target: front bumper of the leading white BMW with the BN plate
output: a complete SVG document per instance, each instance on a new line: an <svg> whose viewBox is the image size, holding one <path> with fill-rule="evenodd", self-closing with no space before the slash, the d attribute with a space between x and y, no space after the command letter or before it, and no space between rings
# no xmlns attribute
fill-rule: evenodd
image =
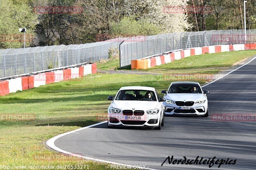
<svg viewBox="0 0 256 170"><path fill-rule="evenodd" d="M134 115L131 115L134 116ZM140 126L140 127L157 127L160 120L160 111L158 114L147 114L140 116L140 120L127 120L122 111L118 114L108 112L108 125L109 126ZM115 120L115 121L113 121Z"/></svg>

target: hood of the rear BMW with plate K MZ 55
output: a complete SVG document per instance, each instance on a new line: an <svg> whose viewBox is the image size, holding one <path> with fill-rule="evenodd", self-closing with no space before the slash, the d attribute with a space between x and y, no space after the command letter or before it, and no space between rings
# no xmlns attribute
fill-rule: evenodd
<svg viewBox="0 0 256 170"><path fill-rule="evenodd" d="M164 97L168 100L173 101L198 101L204 99L204 94L191 94L191 93L167 93L167 95Z"/></svg>

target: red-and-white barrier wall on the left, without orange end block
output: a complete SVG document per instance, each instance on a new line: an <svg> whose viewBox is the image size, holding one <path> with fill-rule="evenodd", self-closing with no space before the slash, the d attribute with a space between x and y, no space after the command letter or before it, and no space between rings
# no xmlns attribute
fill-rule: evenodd
<svg viewBox="0 0 256 170"><path fill-rule="evenodd" d="M62 68L61 70L52 70L44 73L35 73L33 75L10 78L0 81L0 96L6 94L27 90L40 85L47 85L63 80L83 77L97 72L96 63L74 66L71 68Z"/></svg>

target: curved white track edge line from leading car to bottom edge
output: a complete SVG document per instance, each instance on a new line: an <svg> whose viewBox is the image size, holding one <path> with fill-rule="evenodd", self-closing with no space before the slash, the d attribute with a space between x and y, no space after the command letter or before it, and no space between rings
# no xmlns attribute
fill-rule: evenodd
<svg viewBox="0 0 256 170"><path fill-rule="evenodd" d="M106 160L101 160L101 159L94 159L94 158L85 157L85 156L82 156L82 155L79 155L79 154L74 154L74 153L71 153L71 152L67 152L67 151L64 151L64 150L58 148L54 144L55 140L57 140L60 137L63 137L63 136L68 135L70 133L77 132L77 131L80 131L80 130L83 130L83 129L87 129L87 128L90 128L90 127L93 127L93 126L97 126L97 125L100 125L100 124L103 124L103 123L107 123L107 122L108 121L104 121L104 122L96 123L96 124L93 124L93 125L90 125L90 126L86 126L86 127L83 127L83 128L79 128L79 129L76 129L76 130L72 130L70 132L62 133L60 135L52 137L51 139L46 141L45 144L47 146L49 146L50 148L52 148L53 150L55 150L55 151L58 151L58 152L61 152L61 153L65 153L65 154L68 154L68 155L71 155L71 156L76 156L76 157L80 157L80 158L84 158L84 159L89 159L89 160L94 160L94 161L99 161L99 162L104 162L104 163L109 163L109 164L116 164L116 165L123 165L123 166L133 167L133 165L121 164L121 163L116 163L116 162L111 162L111 161L106 161ZM138 168L140 168L140 167L138 167ZM147 168L147 167L141 167L140 169L156 170L156 169L151 169L151 168Z"/></svg>

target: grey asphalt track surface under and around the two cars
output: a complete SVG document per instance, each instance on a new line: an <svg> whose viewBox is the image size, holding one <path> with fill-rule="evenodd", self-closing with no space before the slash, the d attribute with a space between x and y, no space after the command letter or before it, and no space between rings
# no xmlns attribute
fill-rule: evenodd
<svg viewBox="0 0 256 170"><path fill-rule="evenodd" d="M255 169L256 122L213 121L213 114L254 114L256 59L203 88L209 90L209 117L166 117L161 130L108 129L103 123L55 140L56 147L86 157L153 169ZM163 89L164 90L164 89ZM235 165L161 164L174 159L236 159ZM215 160L216 160L215 159Z"/></svg>

